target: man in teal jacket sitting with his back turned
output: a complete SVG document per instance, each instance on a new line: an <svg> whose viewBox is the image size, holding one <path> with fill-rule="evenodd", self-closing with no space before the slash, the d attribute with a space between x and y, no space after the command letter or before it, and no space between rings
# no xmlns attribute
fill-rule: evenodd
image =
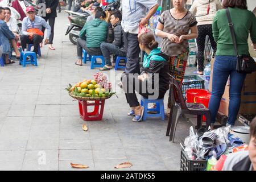
<svg viewBox="0 0 256 182"><path fill-rule="evenodd" d="M95 18L86 22L77 40L77 61L76 65L82 65L82 49L92 56L101 56L101 43L106 42L109 24L104 21L106 13L97 11Z"/></svg>

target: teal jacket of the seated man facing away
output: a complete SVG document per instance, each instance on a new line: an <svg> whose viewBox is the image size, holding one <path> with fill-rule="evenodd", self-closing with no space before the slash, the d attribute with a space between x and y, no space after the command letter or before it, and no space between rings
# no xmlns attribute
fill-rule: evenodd
<svg viewBox="0 0 256 182"><path fill-rule="evenodd" d="M101 19L93 19L86 22L79 37L86 39L86 46L89 48L99 48L102 42L106 41L109 24Z"/></svg>

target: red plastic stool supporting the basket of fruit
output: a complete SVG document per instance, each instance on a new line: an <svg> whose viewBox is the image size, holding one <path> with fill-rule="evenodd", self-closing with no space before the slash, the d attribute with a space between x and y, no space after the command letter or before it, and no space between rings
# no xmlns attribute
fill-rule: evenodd
<svg viewBox="0 0 256 182"><path fill-rule="evenodd" d="M79 100L80 117L84 119L84 121L100 121L102 119L104 105L105 105L105 100L102 100L102 101ZM94 110L91 113L88 112L88 106L94 106Z"/></svg>

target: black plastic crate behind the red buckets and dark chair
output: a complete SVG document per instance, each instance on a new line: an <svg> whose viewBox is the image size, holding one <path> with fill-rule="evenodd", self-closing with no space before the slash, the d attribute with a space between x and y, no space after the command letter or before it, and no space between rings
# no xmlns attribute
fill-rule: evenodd
<svg viewBox="0 0 256 182"><path fill-rule="evenodd" d="M181 87L184 98L188 89L204 89L204 79L198 75L184 76Z"/></svg>

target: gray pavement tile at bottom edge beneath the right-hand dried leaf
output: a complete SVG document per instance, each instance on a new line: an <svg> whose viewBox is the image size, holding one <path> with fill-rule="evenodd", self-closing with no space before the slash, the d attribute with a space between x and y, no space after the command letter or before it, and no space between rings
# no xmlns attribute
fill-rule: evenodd
<svg viewBox="0 0 256 182"><path fill-rule="evenodd" d="M98 171L131 171L131 168L114 168L118 164L128 162L125 159L95 159L94 169ZM126 176L125 176L126 177Z"/></svg>

